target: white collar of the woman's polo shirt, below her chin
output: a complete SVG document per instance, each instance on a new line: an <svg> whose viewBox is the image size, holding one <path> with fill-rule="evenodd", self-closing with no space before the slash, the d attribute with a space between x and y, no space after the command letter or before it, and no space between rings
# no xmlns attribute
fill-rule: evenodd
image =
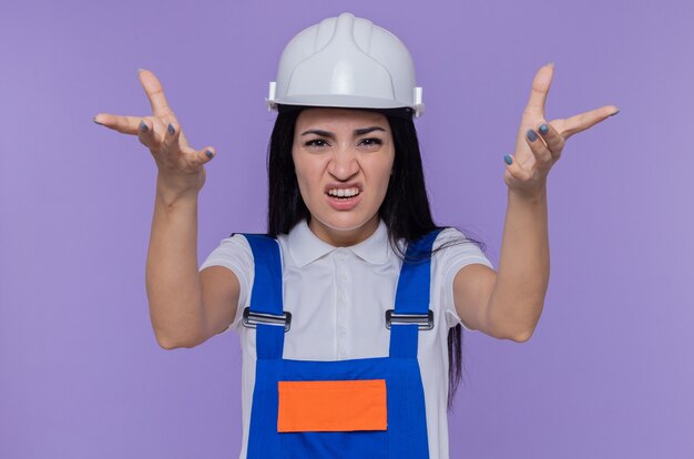
<svg viewBox="0 0 694 459"><path fill-rule="evenodd" d="M339 248L318 238L308 227L306 220L302 220L289 232L288 242L292 258L299 267ZM388 259L388 228L384 221L379 220L378 227L374 234L359 244L345 248L351 251L367 263L380 265Z"/></svg>

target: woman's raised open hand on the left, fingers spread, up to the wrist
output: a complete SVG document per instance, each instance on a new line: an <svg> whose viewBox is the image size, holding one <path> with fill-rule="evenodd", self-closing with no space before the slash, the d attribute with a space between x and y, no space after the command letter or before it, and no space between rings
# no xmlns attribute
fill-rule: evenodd
<svg viewBox="0 0 694 459"><path fill-rule="evenodd" d="M156 162L157 191L172 197L200 192L205 183L203 165L214 157L214 150L192 149L166 102L159 79L149 70L140 70L139 78L152 104L152 115L121 116L99 113L94 116L94 122L123 134L137 135Z"/></svg>

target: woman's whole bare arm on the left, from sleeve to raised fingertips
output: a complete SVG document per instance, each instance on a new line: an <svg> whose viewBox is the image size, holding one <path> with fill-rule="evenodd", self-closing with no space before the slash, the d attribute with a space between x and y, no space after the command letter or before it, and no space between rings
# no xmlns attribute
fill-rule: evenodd
<svg viewBox="0 0 694 459"><path fill-rule="evenodd" d="M205 183L204 164L214 152L192 149L154 73L141 71L139 76L153 115L100 113L94 121L137 135L156 162L145 276L150 317L160 346L193 347L228 325L238 302L238 280L228 269L197 272L197 196Z"/></svg>

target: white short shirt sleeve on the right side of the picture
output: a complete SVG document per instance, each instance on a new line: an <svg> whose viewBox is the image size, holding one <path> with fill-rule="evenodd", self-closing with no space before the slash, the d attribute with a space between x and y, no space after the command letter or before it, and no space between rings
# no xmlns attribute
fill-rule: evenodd
<svg viewBox="0 0 694 459"><path fill-rule="evenodd" d="M479 263L492 269L493 266L480 247L456 228L450 227L441 231L432 248L437 249L443 245L445 247L435 254L432 263L433 282L440 283L437 287L440 288L440 306L446 316L446 323L449 328L461 324L465 329L473 332L466 326L456 310L453 279L463 266L473 263Z"/></svg>

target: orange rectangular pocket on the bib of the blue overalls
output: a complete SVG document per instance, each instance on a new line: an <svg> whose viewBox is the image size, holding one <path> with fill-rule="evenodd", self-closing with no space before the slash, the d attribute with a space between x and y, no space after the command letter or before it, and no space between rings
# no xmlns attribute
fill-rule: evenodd
<svg viewBox="0 0 694 459"><path fill-rule="evenodd" d="M385 379L279 381L279 432L386 430Z"/></svg>

